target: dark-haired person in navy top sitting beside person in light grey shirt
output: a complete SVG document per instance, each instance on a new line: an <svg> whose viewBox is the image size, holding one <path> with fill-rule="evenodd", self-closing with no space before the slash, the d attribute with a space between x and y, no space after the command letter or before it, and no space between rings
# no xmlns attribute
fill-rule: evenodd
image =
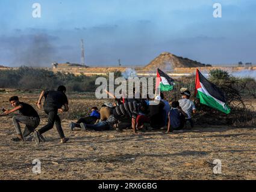
<svg viewBox="0 0 256 192"><path fill-rule="evenodd" d="M172 109L168 113L168 126L166 133L173 132L175 130L181 130L184 127L185 117L187 117L187 113L185 113L178 101L172 102Z"/></svg>

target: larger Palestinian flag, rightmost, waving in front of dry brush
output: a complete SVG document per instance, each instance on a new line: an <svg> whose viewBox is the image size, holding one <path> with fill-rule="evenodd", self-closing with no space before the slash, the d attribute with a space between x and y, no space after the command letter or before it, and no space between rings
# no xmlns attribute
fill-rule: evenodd
<svg viewBox="0 0 256 192"><path fill-rule="evenodd" d="M202 104L226 114L230 113L230 108L226 105L223 92L216 85L209 82L198 69L196 70L195 96L199 98Z"/></svg>

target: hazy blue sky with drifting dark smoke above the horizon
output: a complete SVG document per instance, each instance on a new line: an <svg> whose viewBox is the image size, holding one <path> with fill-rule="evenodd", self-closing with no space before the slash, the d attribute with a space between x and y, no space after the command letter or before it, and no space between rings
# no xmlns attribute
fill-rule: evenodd
<svg viewBox="0 0 256 192"><path fill-rule="evenodd" d="M256 64L255 24L254 0L1 0L0 65L80 63L82 38L89 66L146 65L161 52Z"/></svg>

